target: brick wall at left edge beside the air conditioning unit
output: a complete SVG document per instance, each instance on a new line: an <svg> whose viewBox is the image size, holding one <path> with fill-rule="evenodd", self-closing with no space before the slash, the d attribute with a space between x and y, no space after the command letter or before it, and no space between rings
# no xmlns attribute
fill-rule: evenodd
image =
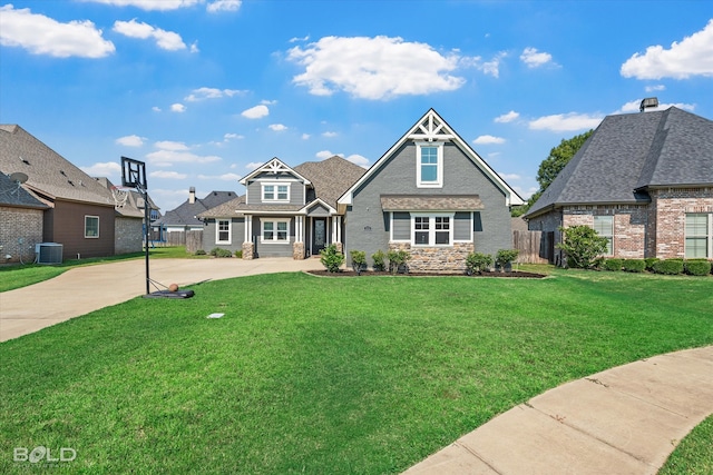
<svg viewBox="0 0 713 475"><path fill-rule="evenodd" d="M35 255L35 245L42 243L42 212L41 209L0 207L0 264L19 263L20 251L28 259ZM6 259L6 255L12 257Z"/></svg>

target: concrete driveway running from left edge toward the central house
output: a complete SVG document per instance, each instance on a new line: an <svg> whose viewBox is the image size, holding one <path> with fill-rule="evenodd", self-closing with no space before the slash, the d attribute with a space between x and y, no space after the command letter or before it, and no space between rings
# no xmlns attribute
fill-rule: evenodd
<svg viewBox="0 0 713 475"><path fill-rule="evenodd" d="M153 259L153 280L168 286L255 274L323 269L320 259ZM144 259L77 267L29 287L0 294L0 342L37 331L146 294ZM152 291L156 288L152 288Z"/></svg>

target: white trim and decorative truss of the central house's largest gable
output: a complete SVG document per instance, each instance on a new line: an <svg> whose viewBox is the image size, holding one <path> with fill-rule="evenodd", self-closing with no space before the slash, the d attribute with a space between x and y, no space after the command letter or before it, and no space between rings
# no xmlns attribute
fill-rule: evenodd
<svg viewBox="0 0 713 475"><path fill-rule="evenodd" d="M371 176L378 174L389 158L407 141L429 141L455 144L478 167L506 197L507 205L522 205L522 198L433 109L429 109L367 172L354 182L338 200L339 205L351 205L353 192Z"/></svg>

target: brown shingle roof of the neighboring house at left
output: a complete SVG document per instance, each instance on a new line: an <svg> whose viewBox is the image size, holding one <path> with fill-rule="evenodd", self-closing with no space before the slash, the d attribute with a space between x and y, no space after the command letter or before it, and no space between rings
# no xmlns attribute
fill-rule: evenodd
<svg viewBox="0 0 713 475"><path fill-rule="evenodd" d="M0 126L0 169L28 176L25 187L55 199L114 206L108 189L17 125Z"/></svg>

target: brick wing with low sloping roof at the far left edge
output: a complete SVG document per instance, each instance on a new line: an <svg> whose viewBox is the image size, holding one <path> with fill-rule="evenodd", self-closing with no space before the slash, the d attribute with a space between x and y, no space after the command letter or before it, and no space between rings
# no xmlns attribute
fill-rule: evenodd
<svg viewBox="0 0 713 475"><path fill-rule="evenodd" d="M42 219L49 206L0 170L0 263L31 259L30 249L42 241ZM22 256L21 256L22 254Z"/></svg>

